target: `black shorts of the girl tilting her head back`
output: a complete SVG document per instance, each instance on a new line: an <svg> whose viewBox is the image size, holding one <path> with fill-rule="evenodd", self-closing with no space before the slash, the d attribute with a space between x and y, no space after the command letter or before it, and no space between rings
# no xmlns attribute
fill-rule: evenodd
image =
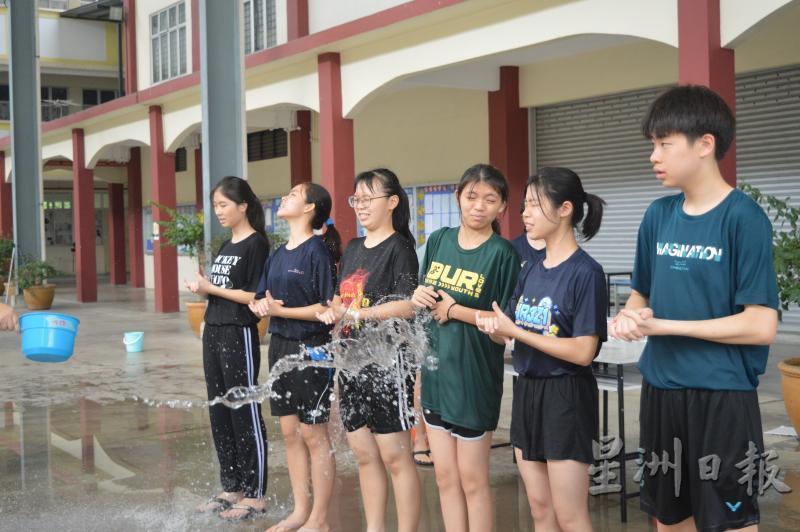
<svg viewBox="0 0 800 532"><path fill-rule="evenodd" d="M316 347L330 341L330 336L319 335L302 342L273 334L269 341L269 369L286 355L302 351L302 345ZM279 398L270 397L269 406L273 416L296 415L301 423L316 425L327 423L331 413L333 394L333 369L293 369L282 374L272 385Z"/></svg>

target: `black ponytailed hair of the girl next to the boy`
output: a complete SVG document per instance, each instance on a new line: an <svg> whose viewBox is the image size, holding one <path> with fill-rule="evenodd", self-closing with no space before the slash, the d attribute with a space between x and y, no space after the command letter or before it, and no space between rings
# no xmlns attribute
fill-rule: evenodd
<svg viewBox="0 0 800 532"><path fill-rule="evenodd" d="M572 220L570 222L574 228L578 228L580 225L578 232L584 241L591 240L600 230L603 205L606 202L594 194L587 194L583 190L581 178L569 168L540 168L528 178L527 187L533 188L540 205L542 197L546 197L556 209L567 201L572 203ZM584 203L587 206L585 217Z"/></svg>

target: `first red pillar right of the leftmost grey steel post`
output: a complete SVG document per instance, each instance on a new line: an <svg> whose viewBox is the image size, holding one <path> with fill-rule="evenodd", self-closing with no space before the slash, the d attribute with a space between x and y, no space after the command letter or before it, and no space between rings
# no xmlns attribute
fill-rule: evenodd
<svg viewBox="0 0 800 532"><path fill-rule="evenodd" d="M75 282L81 303L97 301L97 257L94 177L86 168L83 129L72 130L72 237L75 240Z"/></svg>

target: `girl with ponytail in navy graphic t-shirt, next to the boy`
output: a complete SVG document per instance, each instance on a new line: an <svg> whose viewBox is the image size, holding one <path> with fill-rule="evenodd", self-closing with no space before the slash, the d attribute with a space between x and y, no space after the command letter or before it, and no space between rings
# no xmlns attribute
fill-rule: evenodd
<svg viewBox="0 0 800 532"><path fill-rule="evenodd" d="M584 192L574 172L539 170L528 179L525 217L546 256L525 265L505 312L494 303L494 316L477 315L495 341L515 342L511 444L537 530L592 527L588 467L598 401L591 363L606 340L608 295L603 268L575 232L592 238L602 216L603 200Z"/></svg>

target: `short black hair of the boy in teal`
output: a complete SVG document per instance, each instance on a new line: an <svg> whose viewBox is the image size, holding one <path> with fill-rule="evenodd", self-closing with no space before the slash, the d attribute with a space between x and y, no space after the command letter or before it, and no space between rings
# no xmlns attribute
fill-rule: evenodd
<svg viewBox="0 0 800 532"><path fill-rule="evenodd" d="M722 96L702 85L673 87L656 98L642 121L648 139L682 133L690 142L714 135L714 156L719 161L736 135L736 119Z"/></svg>

